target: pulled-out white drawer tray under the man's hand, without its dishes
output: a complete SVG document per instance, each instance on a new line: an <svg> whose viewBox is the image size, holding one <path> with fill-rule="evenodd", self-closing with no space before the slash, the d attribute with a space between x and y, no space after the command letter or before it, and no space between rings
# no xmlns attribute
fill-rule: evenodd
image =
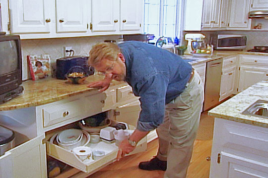
<svg viewBox="0 0 268 178"><path fill-rule="evenodd" d="M84 173L87 173L88 175L95 173L104 166L107 166L108 164L116 160L118 147L114 142L108 143L105 141L100 141L98 143L89 143L86 146L89 146L90 148L92 148L92 150L101 149L105 152L105 155L98 158L94 158L93 155L93 158L90 158L90 160L82 162L72 153L72 151L69 151L61 146L58 146L57 144L51 143L50 141L46 142L47 155L59 161L62 161L67 165L70 165ZM147 148L147 137L145 136L138 142L134 151L129 155L145 151L146 148Z"/></svg>

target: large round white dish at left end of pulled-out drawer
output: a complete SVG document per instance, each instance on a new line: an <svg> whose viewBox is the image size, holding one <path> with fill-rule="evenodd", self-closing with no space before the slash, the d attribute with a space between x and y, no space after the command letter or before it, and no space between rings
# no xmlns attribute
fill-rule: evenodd
<svg viewBox="0 0 268 178"><path fill-rule="evenodd" d="M83 133L78 129L67 129L60 132L57 136L57 142L62 144L76 143L81 140Z"/></svg>

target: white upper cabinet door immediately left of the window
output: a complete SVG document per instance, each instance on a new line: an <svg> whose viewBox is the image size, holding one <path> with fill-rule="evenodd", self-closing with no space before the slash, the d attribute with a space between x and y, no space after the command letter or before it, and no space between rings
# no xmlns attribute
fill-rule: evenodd
<svg viewBox="0 0 268 178"><path fill-rule="evenodd" d="M142 9L142 0L120 0L120 30L139 31Z"/></svg>

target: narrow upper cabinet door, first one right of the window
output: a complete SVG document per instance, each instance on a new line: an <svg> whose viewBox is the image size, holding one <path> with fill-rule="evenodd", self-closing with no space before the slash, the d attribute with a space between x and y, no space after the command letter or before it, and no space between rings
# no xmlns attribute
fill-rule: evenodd
<svg viewBox="0 0 268 178"><path fill-rule="evenodd" d="M204 0L202 28L219 27L220 1L221 0Z"/></svg>

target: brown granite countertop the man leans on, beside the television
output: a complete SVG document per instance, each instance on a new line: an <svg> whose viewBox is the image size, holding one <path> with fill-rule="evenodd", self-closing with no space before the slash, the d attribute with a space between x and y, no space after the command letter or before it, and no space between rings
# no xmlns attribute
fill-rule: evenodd
<svg viewBox="0 0 268 178"><path fill-rule="evenodd" d="M28 80L22 83L24 91L20 96L17 96L3 104L0 104L0 111L20 109L31 106L39 106L42 104L58 101L73 95L84 92L98 93L97 89L87 88L86 86L93 81L101 80L104 76L92 75L88 76L84 84L75 85L67 82L67 80L58 80L48 78L42 80ZM112 81L110 87L124 84L125 82Z"/></svg>

